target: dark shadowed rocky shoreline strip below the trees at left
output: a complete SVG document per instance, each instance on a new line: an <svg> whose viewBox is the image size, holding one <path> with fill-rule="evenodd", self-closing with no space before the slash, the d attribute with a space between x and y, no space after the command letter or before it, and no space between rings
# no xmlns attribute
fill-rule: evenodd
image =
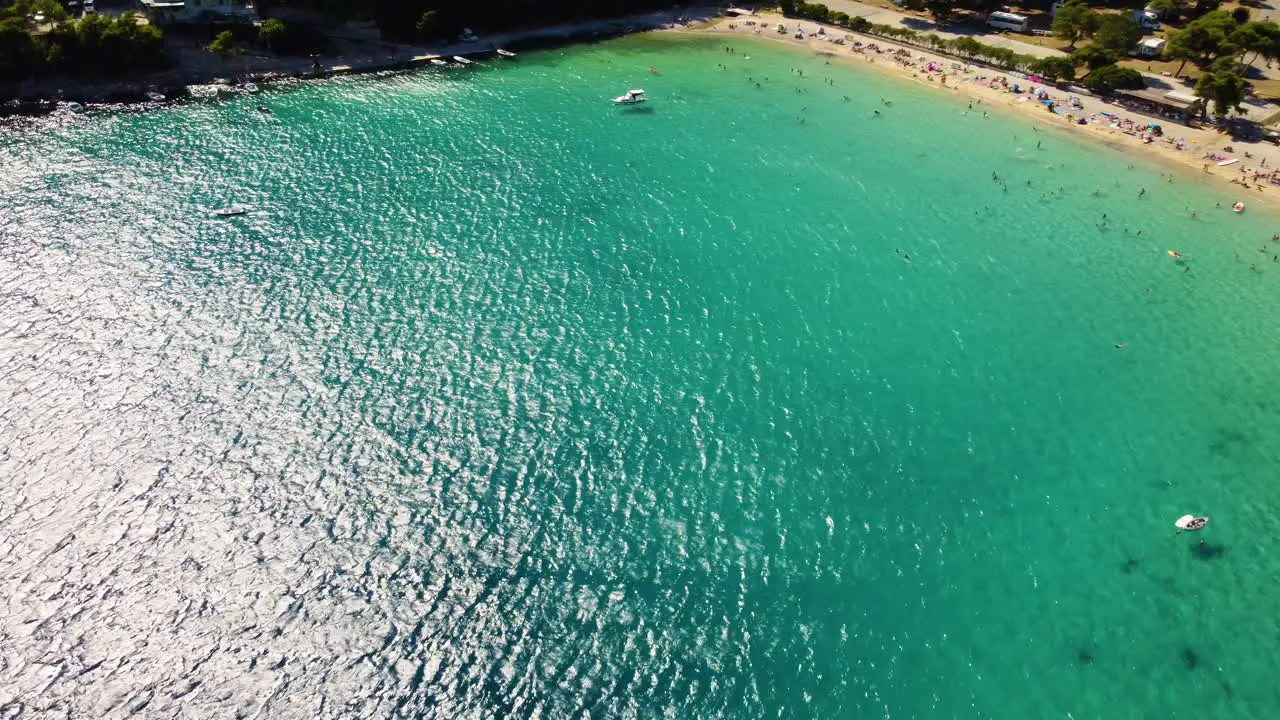
<svg viewBox="0 0 1280 720"><path fill-rule="evenodd" d="M308 58L284 55L253 55L234 60L219 60L200 47L186 47L173 41L178 55L175 67L128 79L92 79L65 76L29 81L19 86L15 96L0 101L0 118L47 115L68 102L93 105L156 105L147 99L147 91L166 96L161 102L198 99L191 87L236 87L246 82L269 83L282 79L321 79L349 74L374 74L420 68L433 59L453 56L474 58L495 55L499 47L530 44L572 44L634 32L649 32L675 27L681 20L705 23L716 17L714 8L682 8L654 13L641 13L620 18L602 18L554 26L536 26L483 37L474 42L453 42L440 46L416 46L351 37L330 37L346 50L317 59L319 68ZM364 45L364 49L358 46Z"/></svg>

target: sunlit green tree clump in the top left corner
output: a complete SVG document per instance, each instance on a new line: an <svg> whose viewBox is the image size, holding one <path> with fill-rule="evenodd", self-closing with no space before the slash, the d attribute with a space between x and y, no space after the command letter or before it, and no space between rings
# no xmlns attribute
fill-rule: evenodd
<svg viewBox="0 0 1280 720"><path fill-rule="evenodd" d="M56 0L0 8L0 82L56 73L123 76L166 63L164 35L133 14L74 19Z"/></svg>

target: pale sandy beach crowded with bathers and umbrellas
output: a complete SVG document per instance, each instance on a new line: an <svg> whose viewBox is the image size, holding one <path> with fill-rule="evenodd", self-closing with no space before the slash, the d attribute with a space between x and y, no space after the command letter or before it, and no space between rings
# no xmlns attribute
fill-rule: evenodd
<svg viewBox="0 0 1280 720"><path fill-rule="evenodd" d="M755 24L746 24L749 22ZM776 32L778 23L786 24L790 32ZM803 28L804 40L795 38L797 28ZM823 28L822 35L817 35L819 28ZM1274 184L1274 182L1280 183L1280 176L1274 174L1274 169L1280 168L1280 147L1266 142L1233 140L1212 128L1181 126L1167 118L1146 115L1105 102L1100 97L1032 83L1025 77L989 67L965 63L846 28L787 19L777 14L719 18L692 27L667 28L663 32L726 40L751 37L799 51L822 53L833 60L861 64L876 72L931 86L952 96L957 102L968 101L974 110L1020 113L1034 119L1037 128L1059 128L1078 137L1102 142L1120 152L1151 158L1178 170L1176 176L1181 179L1203 182L1222 190L1224 206L1240 200L1247 205L1265 204L1268 208L1280 208L1280 184ZM851 40L838 45L833 42L836 38ZM1011 92L1009 88L1014 85L1023 92ZM1046 97L1061 104L1065 114L1047 111L1033 96L1041 90L1047 94ZM1079 104L1071 106L1070 97L1078 99ZM1078 123L1082 118L1087 120L1085 124ZM1164 136L1144 133L1148 122L1158 124L1164 129ZM1170 182L1172 177L1174 173L1170 173Z"/></svg>

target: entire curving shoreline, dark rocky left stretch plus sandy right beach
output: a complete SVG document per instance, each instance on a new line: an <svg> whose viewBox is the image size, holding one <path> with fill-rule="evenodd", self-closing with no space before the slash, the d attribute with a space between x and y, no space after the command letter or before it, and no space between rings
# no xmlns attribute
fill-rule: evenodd
<svg viewBox="0 0 1280 720"><path fill-rule="evenodd" d="M748 26L746 22L756 24ZM805 37L797 40L792 32L777 33L774 28L783 23L788 29L805 28ZM824 36L810 35L818 28L824 29ZM1166 118L1147 115L1138 110L1123 108L1112 102L1105 102L1097 96L1079 96L1083 108L1073 110L1073 114L1060 115L1044 111L1038 102L1029 101L1029 94L1010 94L1000 88L1000 83L1018 83L1025 87L1043 87L1057 100L1066 99L1068 91L1052 85L1032 83L1025 77L1019 77L1006 70L998 70L982 63L968 61L961 58L943 55L936 51L924 50L915 45L895 42L879 36L854 32L846 28L827 26L813 20L799 20L785 18L776 13L760 13L756 15L718 17L714 8L676 8L666 12L643 13L621 18L604 18L596 20L584 20L576 23L562 23L556 26L539 26L498 33L475 42L456 42L452 45L421 47L411 45L398 45L390 42L371 42L367 45L379 46L381 53L366 54L358 58L347 59L344 55L329 58L321 61L319 69L310 59L285 56L259 56L252 60L265 60L259 67L234 68L230 61L214 61L211 56L201 58L206 63L195 63L186 68L175 68L161 73L152 73L129 81L93 81L73 85L70 91L56 88L50 91L63 78L41 78L33 85L37 91L24 92L19 97L0 104L0 118L22 118L49 115L59 109L65 109L69 101L82 102L86 106L142 106L154 108L180 102L186 100L201 100L209 97L205 92L192 92L200 87L224 87L239 90L239 85L247 82L270 83L287 79L323 79L338 76L375 74L384 72L401 72L421 68L431 63L433 59L448 59L452 56L492 56L499 47L521 47L530 44L539 46L561 46L581 41L608 38L644 32L660 32L673 36L692 35L700 37L716 37L722 40L742 38L767 41L791 47L796 51L818 54L841 63L855 63L869 65L873 72L883 77L913 81L918 85L931 86L936 91L945 91L946 95L957 101L968 100L970 104L982 105L995 111L1007 111L1024 115L1028 119L1037 119L1039 126L1057 128L1070 137L1091 138L1108 150L1114 150L1134 158L1144 158L1165 168L1176 170L1184 179L1193 179L1206 187L1225 190L1222 184L1233 184L1234 193L1230 199L1224 199L1229 205L1236 200L1247 204L1260 204L1267 208L1280 208L1280 184L1272 184L1268 179L1256 179L1260 172L1271 173L1272 168L1280 168L1280 147L1265 142L1247 142L1233 140L1230 136L1219 135L1213 129L1193 128L1172 123ZM837 45L826 38L852 38L850 44ZM347 38L351 40L351 38ZM855 46L854 42L860 45ZM870 50L874 49L874 50ZM207 55L207 54L204 54ZM936 72L927 72L929 64L938 67ZM243 65L243 63L242 63ZM966 77L957 77L964 68ZM943 68L954 68L945 70ZM947 79L950 78L950 82ZM166 95L163 101L151 101L146 92L159 90ZM216 95L214 90L212 95ZM29 97L31 100L24 100ZM1073 96L1075 97L1075 96ZM1160 141L1143 142L1137 132L1128 128L1116 127L1116 123L1096 122L1102 113L1111 117L1124 118L1137 123L1139 127L1146 123L1157 123L1169 131L1169 136L1181 141L1181 149L1175 149L1169 136ZM1087 124L1078 124L1075 119L1088 118ZM1235 149L1242 146L1242 149ZM1225 152L1231 147L1234 152ZM1234 159L1230 167L1217 167L1215 161L1203 159L1203 155L1212 152L1219 156ZM1247 158L1248 152L1252 156ZM1280 176L1277 176L1280 177ZM1171 178L1170 178L1171 179ZM1242 184L1248 183L1245 187ZM1267 191L1271 192L1267 192Z"/></svg>

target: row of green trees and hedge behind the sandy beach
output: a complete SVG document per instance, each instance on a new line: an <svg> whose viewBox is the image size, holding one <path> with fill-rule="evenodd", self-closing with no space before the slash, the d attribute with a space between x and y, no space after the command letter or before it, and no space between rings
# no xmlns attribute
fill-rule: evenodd
<svg viewBox="0 0 1280 720"><path fill-rule="evenodd" d="M908 8L928 10L945 22L956 10L986 10L987 0L906 0ZM1216 8L1216 0L1197 4L1196 8ZM1153 0L1153 9L1165 13L1183 10L1178 0ZM1192 12L1196 12L1196 8ZM1050 82L1076 81L1093 92L1108 94L1120 88L1143 87L1142 73L1120 67L1121 60L1142 40L1142 28L1129 14L1100 13L1085 0L1070 0L1053 18L1052 32L1068 41L1066 55L1037 58L1015 53L1007 47L986 45L972 37L943 38L900 26L882 26L861 17L849 17L826 5L782 0L782 13L788 17L846 27L881 37L900 40L941 53L984 61L997 68L1036 74ZM1076 44L1088 40L1088 45ZM1213 113L1226 115L1239 108L1249 92L1247 74L1260 59L1280 59L1280 26L1272 22L1249 20L1248 10L1238 8L1231 13L1207 9L1190 20L1181 31L1169 36L1164 58L1181 60L1175 74L1181 76L1187 63L1196 64L1202 74L1194 92L1206 99Z"/></svg>

